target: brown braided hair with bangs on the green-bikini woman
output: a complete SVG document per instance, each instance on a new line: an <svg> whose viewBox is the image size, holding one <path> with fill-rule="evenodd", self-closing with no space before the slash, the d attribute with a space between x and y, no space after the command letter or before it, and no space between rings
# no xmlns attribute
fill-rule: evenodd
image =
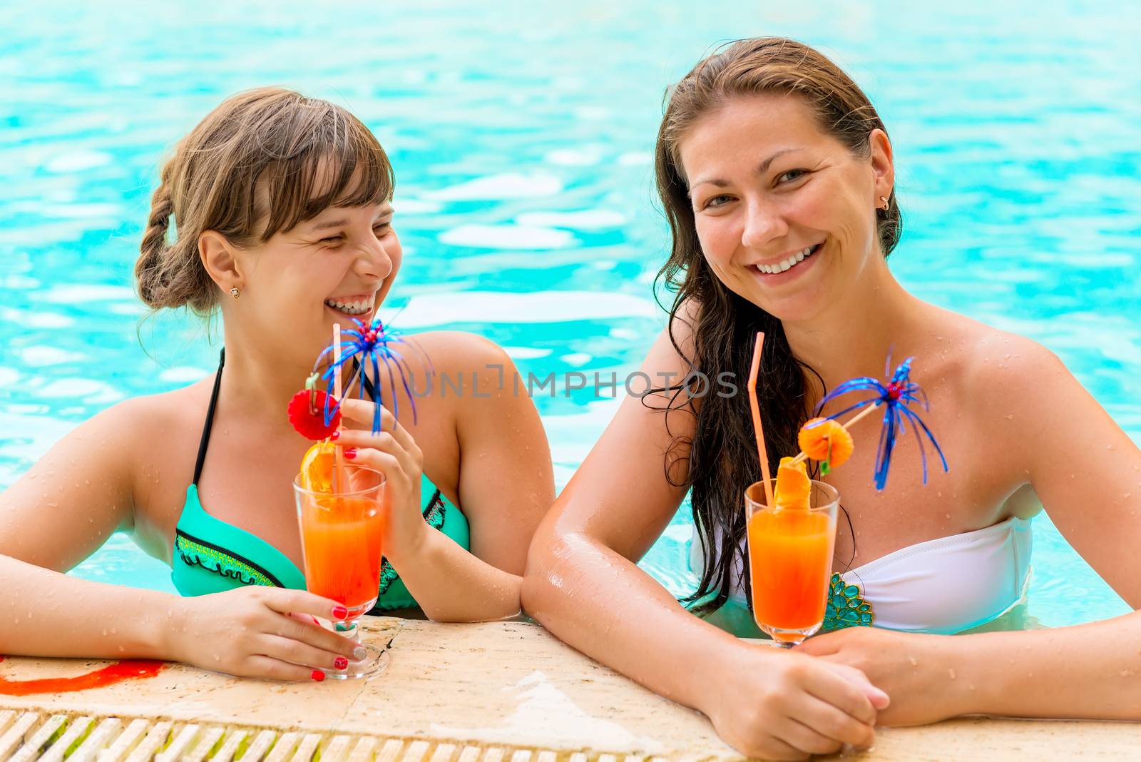
<svg viewBox="0 0 1141 762"><path fill-rule="evenodd" d="M329 206L389 201L393 187L385 149L341 106L281 88L232 96L162 167L135 265L139 297L208 316L219 289L199 256L204 230L249 248Z"/></svg>

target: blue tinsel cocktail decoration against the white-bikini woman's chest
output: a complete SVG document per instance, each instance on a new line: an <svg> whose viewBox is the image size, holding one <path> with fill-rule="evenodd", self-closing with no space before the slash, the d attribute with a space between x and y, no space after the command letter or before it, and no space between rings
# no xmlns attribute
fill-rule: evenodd
<svg viewBox="0 0 1141 762"><path fill-rule="evenodd" d="M842 415L847 415L861 407L867 407L868 405L874 407L882 405L884 407L883 429L880 431L880 447L875 455L875 488L877 491L882 491L888 483L888 470L891 468L891 452L895 449L896 441L907 424L912 427L912 430L915 432L915 440L920 445L920 462L923 464L923 484L926 484L928 476L926 448L923 446L924 436L931 440L931 445L939 454L939 460L942 461L942 470L948 470L947 459L944 456L939 443L936 441L934 435L931 433L931 429L923 422L919 413L911 408L913 403L917 403L924 411L931 410L923 389L920 388L920 384L911 380L913 359L915 358L908 357L900 363L887 384L871 376L851 379L826 394L824 399L816 406L816 413L819 413L826 404L842 395L865 390L875 394L875 396L863 399L827 418L830 420L837 420ZM888 359L888 367L891 367L890 358ZM887 371L887 368L884 370Z"/></svg>

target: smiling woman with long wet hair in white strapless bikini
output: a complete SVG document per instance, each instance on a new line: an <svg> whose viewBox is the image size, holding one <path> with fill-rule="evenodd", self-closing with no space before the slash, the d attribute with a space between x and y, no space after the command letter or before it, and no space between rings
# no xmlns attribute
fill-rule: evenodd
<svg viewBox="0 0 1141 762"><path fill-rule="evenodd" d="M766 757L866 746L877 714L881 723L965 713L1141 719L1141 614L942 634L1017 624L1028 519L1043 506L1141 605L1141 452L1043 347L925 303L896 281L892 148L859 87L802 43L733 43L670 92L656 169L673 233L662 273L677 295L641 371L729 373L739 394L680 384L623 400L535 535L527 610ZM756 634L742 623L743 492L760 479L743 380L758 331L767 334L758 395L774 471L800 449L796 431L825 390L880 376L892 349L916 358L926 421L950 462L924 485L919 448L905 440L876 492L879 432L872 421L855 427L851 461L819 478L848 516L833 570L877 626L792 651L727 631ZM701 572L693 608L706 618L636 566L689 491ZM745 616L728 615L734 607Z"/></svg>

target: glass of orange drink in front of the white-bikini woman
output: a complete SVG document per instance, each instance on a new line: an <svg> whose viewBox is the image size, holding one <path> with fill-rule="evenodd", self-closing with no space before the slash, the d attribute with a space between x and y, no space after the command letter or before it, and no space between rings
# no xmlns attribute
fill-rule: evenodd
<svg viewBox="0 0 1141 762"><path fill-rule="evenodd" d="M824 623L839 505L840 493L823 481L811 483L808 509L769 505L762 481L745 489L753 618L783 648Z"/></svg>

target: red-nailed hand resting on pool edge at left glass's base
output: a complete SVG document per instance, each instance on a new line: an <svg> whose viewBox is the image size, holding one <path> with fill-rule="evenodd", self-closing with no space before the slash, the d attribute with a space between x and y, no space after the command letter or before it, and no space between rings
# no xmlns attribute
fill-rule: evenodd
<svg viewBox="0 0 1141 762"><path fill-rule="evenodd" d="M357 643L313 617L339 621L345 607L304 590L249 585L178 599L163 656L243 678L324 680L342 670Z"/></svg>

